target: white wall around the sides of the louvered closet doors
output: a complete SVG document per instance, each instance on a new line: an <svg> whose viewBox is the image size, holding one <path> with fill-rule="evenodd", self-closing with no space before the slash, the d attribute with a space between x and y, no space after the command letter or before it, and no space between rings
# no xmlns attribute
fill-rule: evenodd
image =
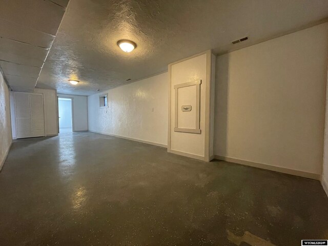
<svg viewBox="0 0 328 246"><path fill-rule="evenodd" d="M35 88L35 93L42 93L44 99L44 110L45 110L45 130L46 136L58 135L58 116L57 116L57 93L56 90L52 89L38 89ZM16 125L15 125L15 111L14 111L14 99L13 93L10 93L11 103L11 127L12 137L16 138Z"/></svg>

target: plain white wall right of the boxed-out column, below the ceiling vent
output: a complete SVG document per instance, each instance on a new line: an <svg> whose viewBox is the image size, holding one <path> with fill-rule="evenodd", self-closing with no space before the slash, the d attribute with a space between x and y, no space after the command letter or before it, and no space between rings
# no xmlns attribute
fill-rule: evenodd
<svg viewBox="0 0 328 246"><path fill-rule="evenodd" d="M321 175L328 24L217 57L215 154Z"/></svg>

